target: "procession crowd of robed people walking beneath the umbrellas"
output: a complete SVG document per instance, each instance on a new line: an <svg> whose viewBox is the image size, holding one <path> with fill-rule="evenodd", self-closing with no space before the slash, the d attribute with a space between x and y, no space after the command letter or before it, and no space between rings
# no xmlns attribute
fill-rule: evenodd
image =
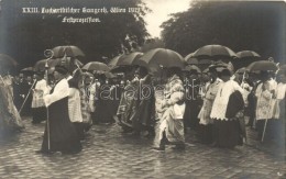
<svg viewBox="0 0 286 179"><path fill-rule="evenodd" d="M0 80L0 132L46 121L38 153L81 150L80 142L92 125L120 125L122 133L151 137L153 149L185 149L185 134L212 147L243 145L245 125L258 141L285 144L286 71L234 72L210 65L207 70L163 68L160 76L145 67L129 66L114 78L57 65L47 76L37 71ZM32 112L32 113L31 113ZM248 121L248 124L244 122Z"/></svg>

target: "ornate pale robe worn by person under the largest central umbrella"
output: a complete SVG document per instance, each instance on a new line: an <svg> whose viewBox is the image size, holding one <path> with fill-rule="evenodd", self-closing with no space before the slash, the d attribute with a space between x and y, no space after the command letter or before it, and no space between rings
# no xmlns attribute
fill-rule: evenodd
<svg viewBox="0 0 286 179"><path fill-rule="evenodd" d="M157 92L157 93L156 93ZM185 90L182 80L178 76L170 77L162 90L155 90L157 123L155 125L154 146L158 147L163 138L164 132L166 137L172 143L184 143L184 121L186 104L184 101ZM164 98L164 99L162 99Z"/></svg>

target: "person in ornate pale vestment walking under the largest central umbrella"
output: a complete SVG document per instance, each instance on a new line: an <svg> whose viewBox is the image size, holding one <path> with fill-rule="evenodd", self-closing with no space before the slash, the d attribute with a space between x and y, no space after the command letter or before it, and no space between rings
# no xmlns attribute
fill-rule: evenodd
<svg viewBox="0 0 286 179"><path fill-rule="evenodd" d="M164 98L156 100L155 150L165 150L165 144L174 144L174 149L185 149L184 113L185 90L177 67L166 70L167 81ZM155 91L156 92L156 91ZM161 115L161 114L162 115Z"/></svg>

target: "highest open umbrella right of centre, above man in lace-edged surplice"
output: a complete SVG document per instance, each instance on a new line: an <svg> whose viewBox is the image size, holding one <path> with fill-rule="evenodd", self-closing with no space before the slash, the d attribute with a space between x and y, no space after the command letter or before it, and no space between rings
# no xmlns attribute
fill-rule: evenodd
<svg viewBox="0 0 286 179"><path fill-rule="evenodd" d="M234 58L238 56L232 49L230 49L227 46L206 45L206 46L198 48L193 54L193 57L219 59L219 58Z"/></svg>

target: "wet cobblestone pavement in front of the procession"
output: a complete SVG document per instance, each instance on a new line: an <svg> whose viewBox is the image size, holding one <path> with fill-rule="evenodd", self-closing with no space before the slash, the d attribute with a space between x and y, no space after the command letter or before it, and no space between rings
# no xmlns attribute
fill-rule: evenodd
<svg viewBox="0 0 286 179"><path fill-rule="evenodd" d="M282 158L252 147L213 148L191 141L185 152L151 150L152 139L122 134L116 125L95 125L76 155L37 155L44 124L24 120L23 133L0 141L0 178L283 178Z"/></svg>

